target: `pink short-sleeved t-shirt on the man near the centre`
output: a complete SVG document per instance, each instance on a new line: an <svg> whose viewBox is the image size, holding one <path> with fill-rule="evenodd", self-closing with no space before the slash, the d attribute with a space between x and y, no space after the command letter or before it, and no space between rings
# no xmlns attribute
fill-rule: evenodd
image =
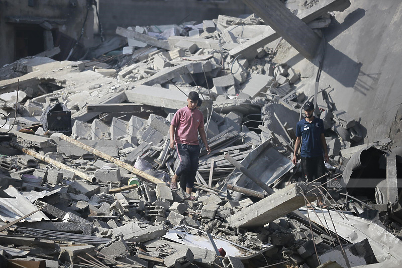
<svg viewBox="0 0 402 268"><path fill-rule="evenodd" d="M198 145L198 127L204 126L203 113L198 109L191 110L183 107L179 109L170 123L176 127L174 140L176 143Z"/></svg>

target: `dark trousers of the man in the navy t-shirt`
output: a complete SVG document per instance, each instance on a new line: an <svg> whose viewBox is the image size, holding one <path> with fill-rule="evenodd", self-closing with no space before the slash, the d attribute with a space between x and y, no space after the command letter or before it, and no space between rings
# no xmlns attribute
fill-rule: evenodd
<svg viewBox="0 0 402 268"><path fill-rule="evenodd" d="M316 178L321 177L327 171L327 168L324 164L324 157L302 157L302 172L303 176L306 178L306 181L311 182L316 180ZM327 178L324 176L317 181L320 184L324 184L327 182ZM323 185L326 187L326 185Z"/></svg>

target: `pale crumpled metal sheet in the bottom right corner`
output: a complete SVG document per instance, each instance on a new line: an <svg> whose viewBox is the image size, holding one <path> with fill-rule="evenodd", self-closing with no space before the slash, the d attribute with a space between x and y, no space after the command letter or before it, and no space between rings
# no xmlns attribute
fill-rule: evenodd
<svg viewBox="0 0 402 268"><path fill-rule="evenodd" d="M307 210L299 211L307 217ZM334 227L331 224L331 218L328 211L324 210L323 213L320 211L316 214L309 211L309 216L312 221L320 226L323 226L321 222L325 222L325 217L329 225L325 226L325 228L329 227L329 229L334 232ZM357 243L368 238L378 262L383 262L387 259L396 260L399 263L402 262L402 254L400 253L402 252L402 241L393 234L370 220L347 215L346 217L349 219L348 221L343 215L344 219L342 219L341 216L333 210L330 210L330 213L339 236L351 243ZM319 218L321 219L321 222Z"/></svg>

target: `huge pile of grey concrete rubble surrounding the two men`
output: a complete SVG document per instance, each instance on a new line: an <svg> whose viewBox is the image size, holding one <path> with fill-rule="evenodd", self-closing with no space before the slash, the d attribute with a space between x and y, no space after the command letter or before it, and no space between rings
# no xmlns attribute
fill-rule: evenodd
<svg viewBox="0 0 402 268"><path fill-rule="evenodd" d="M302 15L328 27L334 7L315 7ZM279 42L269 44L277 36L260 18L116 33L128 46L111 65L28 57L0 69L0 262L400 263L400 151L391 140L365 143L324 88L316 115L327 132L328 191L305 182L291 162L294 127L314 96L299 85L303 74L273 61ZM201 148L196 201L169 187L179 163L170 120L191 91L202 96L212 150ZM319 196L326 208L313 206Z"/></svg>

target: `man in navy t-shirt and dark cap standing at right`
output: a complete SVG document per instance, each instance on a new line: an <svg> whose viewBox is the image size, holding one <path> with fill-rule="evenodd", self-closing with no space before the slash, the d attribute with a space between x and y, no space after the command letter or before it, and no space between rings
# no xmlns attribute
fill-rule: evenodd
<svg viewBox="0 0 402 268"><path fill-rule="evenodd" d="M328 162L327 142L324 136L324 123L320 118L313 115L314 104L306 102L303 106L306 118L297 122L296 142L294 144L293 164L297 163L297 151L300 148L302 157L302 172L307 181L313 181L325 174L325 162ZM321 178L320 183L325 183L327 179Z"/></svg>

